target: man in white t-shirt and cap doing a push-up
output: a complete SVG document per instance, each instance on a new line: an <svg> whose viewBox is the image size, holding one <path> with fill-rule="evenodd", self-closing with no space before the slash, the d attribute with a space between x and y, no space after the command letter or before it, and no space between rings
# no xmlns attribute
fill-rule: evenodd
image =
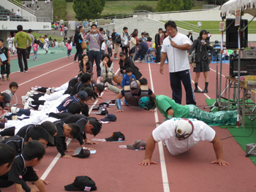
<svg viewBox="0 0 256 192"><path fill-rule="evenodd" d="M222 142L213 128L203 121L195 119L172 118L166 120L154 129L146 143L145 160L139 165L157 164L152 161L152 154L156 142L165 141L165 145L172 155L185 153L200 141L208 141L214 145L217 160L211 164L229 165L223 158Z"/></svg>

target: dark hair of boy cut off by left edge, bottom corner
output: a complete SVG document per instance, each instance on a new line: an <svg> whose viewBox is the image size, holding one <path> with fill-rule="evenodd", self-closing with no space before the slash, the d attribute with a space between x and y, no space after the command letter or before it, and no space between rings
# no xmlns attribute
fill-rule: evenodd
<svg viewBox="0 0 256 192"><path fill-rule="evenodd" d="M6 143L0 143L0 154L0 166L8 164L7 167L9 168L15 158L15 150Z"/></svg>

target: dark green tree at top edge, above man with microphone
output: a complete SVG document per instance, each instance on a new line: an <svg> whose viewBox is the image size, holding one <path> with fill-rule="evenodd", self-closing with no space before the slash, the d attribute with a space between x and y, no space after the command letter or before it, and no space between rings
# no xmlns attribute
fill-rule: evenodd
<svg viewBox="0 0 256 192"><path fill-rule="evenodd" d="M182 0L159 0L157 2L157 10L159 12L179 11L184 7Z"/></svg>

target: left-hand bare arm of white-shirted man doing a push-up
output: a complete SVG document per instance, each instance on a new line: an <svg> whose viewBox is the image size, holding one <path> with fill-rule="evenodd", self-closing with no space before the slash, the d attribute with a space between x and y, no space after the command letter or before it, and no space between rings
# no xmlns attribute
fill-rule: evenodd
<svg viewBox="0 0 256 192"><path fill-rule="evenodd" d="M156 146L156 141L154 140L154 138L151 134L151 136L148 138L147 143L146 143L145 160L141 161L139 163L139 165L157 164L156 162L151 161L155 146Z"/></svg>

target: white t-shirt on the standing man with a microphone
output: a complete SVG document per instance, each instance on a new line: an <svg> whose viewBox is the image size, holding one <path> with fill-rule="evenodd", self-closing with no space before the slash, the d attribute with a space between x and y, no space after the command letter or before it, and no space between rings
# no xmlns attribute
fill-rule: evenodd
<svg viewBox="0 0 256 192"><path fill-rule="evenodd" d="M176 37L172 38L176 45L192 45L192 42L184 34L176 34ZM162 43L162 52L167 53L169 72L181 72L189 67L189 58L187 56L187 50L179 50L170 45L170 39L167 37Z"/></svg>

